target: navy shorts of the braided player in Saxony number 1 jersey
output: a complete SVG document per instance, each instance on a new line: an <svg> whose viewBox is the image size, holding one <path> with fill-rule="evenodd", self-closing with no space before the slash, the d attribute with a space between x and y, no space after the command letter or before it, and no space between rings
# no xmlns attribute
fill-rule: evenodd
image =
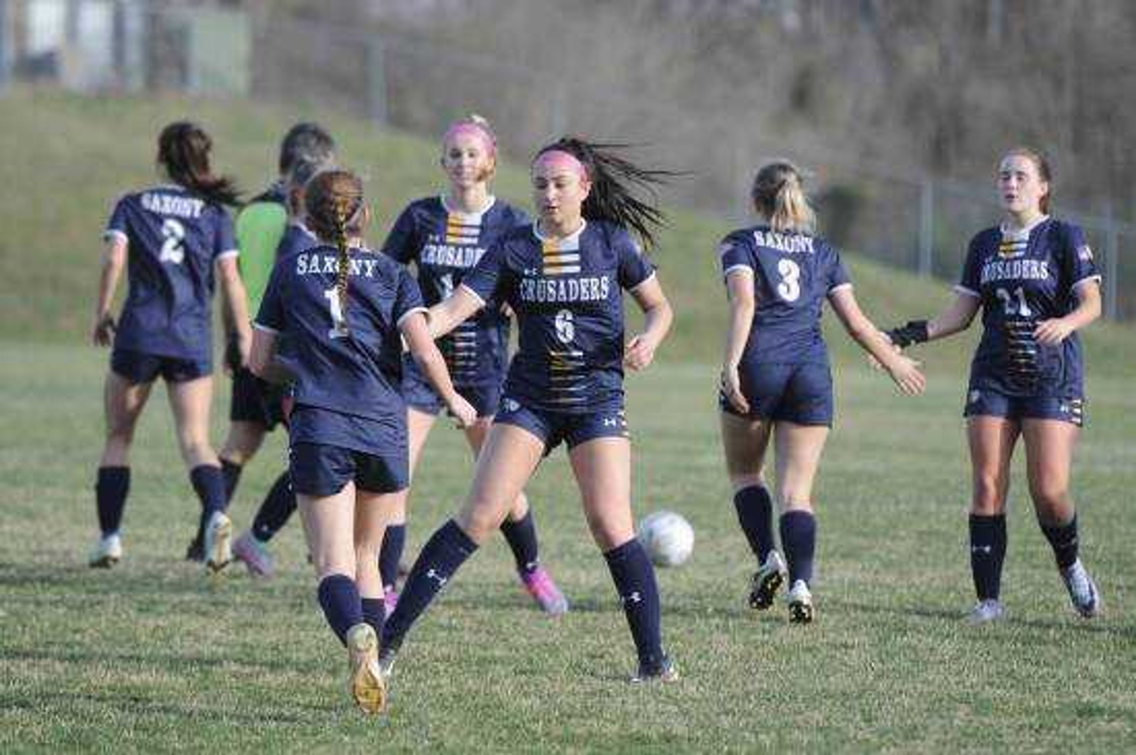
<svg viewBox="0 0 1136 755"><path fill-rule="evenodd" d="M410 485L406 454L387 458L321 443L295 443L289 459L292 487L303 495L334 495L352 480L368 493L395 493Z"/></svg>

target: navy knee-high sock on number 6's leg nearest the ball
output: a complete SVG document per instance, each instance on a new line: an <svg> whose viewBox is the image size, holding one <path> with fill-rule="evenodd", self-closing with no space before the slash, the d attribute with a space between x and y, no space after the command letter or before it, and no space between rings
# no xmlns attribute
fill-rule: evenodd
<svg viewBox="0 0 1136 755"><path fill-rule="evenodd" d="M662 664L661 609L651 560L637 538L608 551L603 557L619 592L640 665L646 670L659 669Z"/></svg>

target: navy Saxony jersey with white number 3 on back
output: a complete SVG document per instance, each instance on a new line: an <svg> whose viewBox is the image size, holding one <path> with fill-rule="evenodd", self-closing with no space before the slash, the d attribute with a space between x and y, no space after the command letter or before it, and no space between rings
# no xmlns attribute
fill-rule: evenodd
<svg viewBox="0 0 1136 755"><path fill-rule="evenodd" d="M841 255L828 242L757 226L726 236L718 254L724 277L737 268L753 270L757 305L744 361L767 364L828 361L820 333L825 299L852 285Z"/></svg>

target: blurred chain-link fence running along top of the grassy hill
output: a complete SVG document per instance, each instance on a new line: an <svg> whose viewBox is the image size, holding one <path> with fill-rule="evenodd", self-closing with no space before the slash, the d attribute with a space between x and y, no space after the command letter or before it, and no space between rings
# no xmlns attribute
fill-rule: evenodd
<svg viewBox="0 0 1136 755"><path fill-rule="evenodd" d="M90 93L303 100L431 139L456 116L476 111L517 159L566 132L648 145L655 163L688 174L669 190L669 201L734 223L750 217L755 167L787 157L816 171L822 230L836 244L944 278L958 276L969 237L999 217L993 182L960 184L837 149L785 144L713 114L605 91L600 81L566 82L369 23L254 8L0 0L0 91L11 79L47 79ZM1106 316L1136 319L1136 258L1121 252L1136 242L1136 225L1060 203L1056 211L1085 228L1104 272Z"/></svg>

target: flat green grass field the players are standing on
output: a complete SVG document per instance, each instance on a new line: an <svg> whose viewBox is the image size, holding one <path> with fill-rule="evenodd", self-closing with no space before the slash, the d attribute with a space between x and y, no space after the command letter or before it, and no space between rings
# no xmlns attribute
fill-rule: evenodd
<svg viewBox="0 0 1136 755"><path fill-rule="evenodd" d="M0 446L0 750L1136 747L1127 593L1136 401L1122 378L1092 379L1076 468L1083 553L1106 606L1100 620L1071 615L1018 469L1011 620L963 624L971 589L959 381L903 400L857 363L838 369L840 421L816 494L818 622L788 626L782 605L751 612L752 563L721 471L713 370L663 364L630 380L629 416L636 514L675 509L698 534L691 561L659 573L665 639L683 681L641 689L624 680L630 640L558 452L529 493L545 562L574 610L559 621L536 613L507 548L488 544L408 640L391 713L375 721L346 698L342 649L319 615L298 527L277 538L281 573L268 582L233 570L210 589L179 560L197 504L160 391L132 460L126 560L111 572L85 568L106 355L2 346L11 439ZM240 526L282 456L276 434L242 479ZM459 434L440 426L412 497L408 554L453 509L469 470Z"/></svg>

